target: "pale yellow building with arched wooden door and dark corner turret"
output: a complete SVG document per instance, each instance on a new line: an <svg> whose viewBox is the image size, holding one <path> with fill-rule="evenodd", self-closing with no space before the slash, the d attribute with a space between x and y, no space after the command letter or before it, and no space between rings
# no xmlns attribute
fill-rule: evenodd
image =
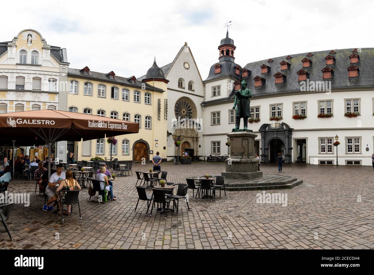
<svg viewBox="0 0 374 275"><path fill-rule="evenodd" d="M112 156L121 161L150 161L156 152L166 159L167 83L156 60L147 77L120 77L113 71L98 73L88 67L69 68L68 111L129 120L140 124L139 133L115 137ZM167 107L166 107L167 113ZM105 139L67 141L68 152L75 160L100 156L110 158L110 145Z"/></svg>

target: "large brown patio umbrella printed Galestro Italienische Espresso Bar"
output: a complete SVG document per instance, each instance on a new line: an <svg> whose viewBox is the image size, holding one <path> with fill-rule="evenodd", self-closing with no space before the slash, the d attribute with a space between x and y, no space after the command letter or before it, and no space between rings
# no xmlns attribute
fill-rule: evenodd
<svg viewBox="0 0 374 275"><path fill-rule="evenodd" d="M26 142L43 140L48 144L71 140L81 141L114 137L139 132L139 124L126 120L73 113L59 110L36 110L0 114L1 141L21 140ZM50 162L48 162L50 176ZM13 169L14 177L14 169Z"/></svg>

